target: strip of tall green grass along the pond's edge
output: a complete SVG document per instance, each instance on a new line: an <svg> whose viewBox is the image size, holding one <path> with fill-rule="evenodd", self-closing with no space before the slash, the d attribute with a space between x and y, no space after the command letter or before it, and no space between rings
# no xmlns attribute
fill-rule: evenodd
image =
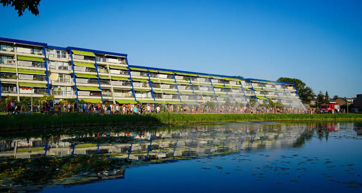
<svg viewBox="0 0 362 193"><path fill-rule="evenodd" d="M170 114L159 115L2 115L0 131L61 128L71 126L126 125L126 124L168 124L190 125L222 121L280 121L280 120L356 120L361 114Z"/></svg>

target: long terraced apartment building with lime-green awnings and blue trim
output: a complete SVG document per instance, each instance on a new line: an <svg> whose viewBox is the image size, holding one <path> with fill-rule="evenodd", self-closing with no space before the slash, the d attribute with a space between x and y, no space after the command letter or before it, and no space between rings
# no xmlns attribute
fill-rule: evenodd
<svg viewBox="0 0 362 193"><path fill-rule="evenodd" d="M129 65L123 53L0 38L1 97L114 103L300 105L294 83Z"/></svg>

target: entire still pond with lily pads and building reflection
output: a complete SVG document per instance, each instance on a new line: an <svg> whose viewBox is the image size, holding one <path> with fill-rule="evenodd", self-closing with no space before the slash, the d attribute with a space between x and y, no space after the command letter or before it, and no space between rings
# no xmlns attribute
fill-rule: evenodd
<svg viewBox="0 0 362 193"><path fill-rule="evenodd" d="M0 192L362 192L362 122L0 134Z"/></svg>

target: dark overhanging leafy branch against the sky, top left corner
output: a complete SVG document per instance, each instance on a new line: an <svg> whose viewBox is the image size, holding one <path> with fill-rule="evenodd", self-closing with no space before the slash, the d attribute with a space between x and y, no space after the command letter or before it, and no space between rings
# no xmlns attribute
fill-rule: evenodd
<svg viewBox="0 0 362 193"><path fill-rule="evenodd" d="M0 0L0 3L3 4L3 7L14 7L18 11L19 17L28 9L31 14L35 16L39 15L39 3L40 0Z"/></svg>

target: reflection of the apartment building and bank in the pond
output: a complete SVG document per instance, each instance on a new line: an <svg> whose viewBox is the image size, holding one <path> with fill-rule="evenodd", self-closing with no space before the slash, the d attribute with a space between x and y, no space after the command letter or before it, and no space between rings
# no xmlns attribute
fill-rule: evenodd
<svg viewBox="0 0 362 193"><path fill-rule="evenodd" d="M361 122L237 122L2 133L0 171L5 172L0 173L0 189L38 191L125 178L125 171L131 167L209 160L256 150L299 149L313 138L327 142L331 134L333 139L362 139ZM235 156L233 160L250 159Z"/></svg>

